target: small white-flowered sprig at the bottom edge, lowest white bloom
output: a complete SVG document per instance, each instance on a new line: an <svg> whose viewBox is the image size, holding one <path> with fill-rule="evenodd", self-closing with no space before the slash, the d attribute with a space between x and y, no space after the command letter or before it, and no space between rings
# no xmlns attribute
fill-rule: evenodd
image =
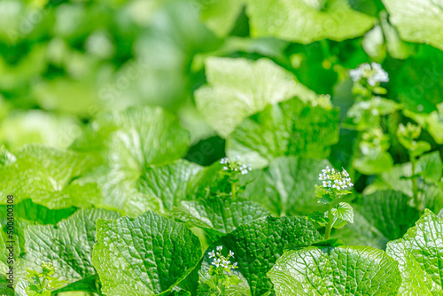
<svg viewBox="0 0 443 296"><path fill-rule="evenodd" d="M210 287L211 296L227 295L227 289L231 285L236 285L242 281L232 273L233 269L237 269L237 262L231 262L234 258L234 253L229 250L229 253L224 256L221 251L222 245L216 247L216 250L209 252L209 259L212 259L211 267L209 268L209 281L206 284Z"/></svg>

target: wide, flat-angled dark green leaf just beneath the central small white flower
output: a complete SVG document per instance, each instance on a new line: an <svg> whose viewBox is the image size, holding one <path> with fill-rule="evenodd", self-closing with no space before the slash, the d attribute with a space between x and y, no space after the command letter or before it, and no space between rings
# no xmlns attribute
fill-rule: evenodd
<svg viewBox="0 0 443 296"><path fill-rule="evenodd" d="M259 204L245 199L209 198L183 201L171 213L175 218L199 227L212 237L228 234L243 224L268 216Z"/></svg>

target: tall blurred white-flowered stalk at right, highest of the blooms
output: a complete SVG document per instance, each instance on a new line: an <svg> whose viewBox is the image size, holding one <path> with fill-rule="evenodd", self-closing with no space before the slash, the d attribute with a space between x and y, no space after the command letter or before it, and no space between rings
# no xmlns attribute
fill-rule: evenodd
<svg viewBox="0 0 443 296"><path fill-rule="evenodd" d="M346 129L358 130L358 145L354 146L352 168L365 175L375 175L392 168L393 160L388 152L391 144L390 125L385 115L396 113L400 105L383 96L387 90L382 82L389 76L377 63L365 63L349 71L354 85L354 105L347 112ZM397 118L392 114L392 118ZM394 124L396 126L396 124ZM351 171L354 174L353 171Z"/></svg>

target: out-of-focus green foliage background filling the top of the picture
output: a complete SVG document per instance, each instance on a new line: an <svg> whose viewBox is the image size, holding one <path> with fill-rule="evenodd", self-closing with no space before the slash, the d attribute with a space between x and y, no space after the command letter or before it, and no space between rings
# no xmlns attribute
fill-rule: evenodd
<svg viewBox="0 0 443 296"><path fill-rule="evenodd" d="M354 102L347 71L377 61L390 99L424 121L436 112L441 144L442 42L431 34L441 21L425 27L430 16L416 12L417 24L405 23L399 3L386 6L392 26L380 1L4 0L0 142L67 147L98 113L160 105L197 144L217 136L193 94L206 83L206 58L218 56L271 59L329 94L342 119Z"/></svg>

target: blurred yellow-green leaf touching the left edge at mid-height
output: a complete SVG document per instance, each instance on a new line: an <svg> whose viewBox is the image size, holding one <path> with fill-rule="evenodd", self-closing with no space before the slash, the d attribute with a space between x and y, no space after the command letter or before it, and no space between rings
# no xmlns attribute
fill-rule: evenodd
<svg viewBox="0 0 443 296"><path fill-rule="evenodd" d="M82 178L100 164L89 153L27 145L14 154L14 162L0 167L0 204L6 203L8 194L16 203L32 199L50 209L100 202L97 183Z"/></svg>

